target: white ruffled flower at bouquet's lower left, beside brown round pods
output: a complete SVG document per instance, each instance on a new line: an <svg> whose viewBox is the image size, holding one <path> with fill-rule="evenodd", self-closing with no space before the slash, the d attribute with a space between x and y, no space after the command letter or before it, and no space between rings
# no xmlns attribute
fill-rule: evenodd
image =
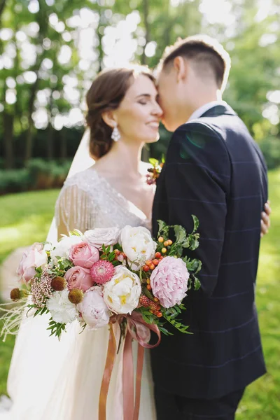
<svg viewBox="0 0 280 420"><path fill-rule="evenodd" d="M76 305L68 299L69 290L54 292L47 300L46 307L50 311L53 321L59 323L70 323L78 319Z"/></svg>

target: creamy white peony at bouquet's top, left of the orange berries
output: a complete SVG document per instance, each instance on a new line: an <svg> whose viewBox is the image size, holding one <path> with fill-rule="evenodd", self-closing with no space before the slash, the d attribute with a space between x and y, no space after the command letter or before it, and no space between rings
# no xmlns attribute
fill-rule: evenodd
<svg viewBox="0 0 280 420"><path fill-rule="evenodd" d="M139 226L132 228L125 226L120 234L120 244L127 260L132 264L132 269L137 271L145 265L146 260L152 260L155 255L157 244L151 237L151 232Z"/></svg>

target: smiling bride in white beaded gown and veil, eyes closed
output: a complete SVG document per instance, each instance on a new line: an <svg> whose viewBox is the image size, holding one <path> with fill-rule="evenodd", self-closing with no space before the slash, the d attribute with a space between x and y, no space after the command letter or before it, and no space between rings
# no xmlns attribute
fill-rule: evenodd
<svg viewBox="0 0 280 420"><path fill-rule="evenodd" d="M159 137L157 95L144 67L103 71L94 80L87 92L87 125L90 154L97 162L87 167L86 153L80 157L83 140L71 168L80 172L66 179L57 199L58 237L74 228L150 228L154 190L146 184L147 167L140 158L144 144ZM79 335L79 326L71 325L58 342L48 337L47 324L48 316L22 321L8 377L12 405L0 420L97 420L108 328ZM108 420L123 420L122 351L111 377ZM134 360L136 354L134 346ZM155 419L148 356L146 351L140 420Z"/></svg>

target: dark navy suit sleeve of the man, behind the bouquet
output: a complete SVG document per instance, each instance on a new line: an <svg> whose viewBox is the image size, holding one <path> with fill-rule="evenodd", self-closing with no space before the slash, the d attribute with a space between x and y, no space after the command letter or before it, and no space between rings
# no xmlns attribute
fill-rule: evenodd
<svg viewBox="0 0 280 420"><path fill-rule="evenodd" d="M220 267L230 189L230 159L225 142L204 123L188 123L172 137L166 163L169 224L193 231L200 221L200 246L186 255L202 260L200 293L213 293Z"/></svg>

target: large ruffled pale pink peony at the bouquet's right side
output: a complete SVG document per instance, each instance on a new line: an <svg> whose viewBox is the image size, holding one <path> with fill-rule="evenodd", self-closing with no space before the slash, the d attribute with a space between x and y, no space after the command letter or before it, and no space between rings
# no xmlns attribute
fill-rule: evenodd
<svg viewBox="0 0 280 420"><path fill-rule="evenodd" d="M189 276L186 262L181 258L163 258L151 275L153 295L163 307L174 307L186 297Z"/></svg>

